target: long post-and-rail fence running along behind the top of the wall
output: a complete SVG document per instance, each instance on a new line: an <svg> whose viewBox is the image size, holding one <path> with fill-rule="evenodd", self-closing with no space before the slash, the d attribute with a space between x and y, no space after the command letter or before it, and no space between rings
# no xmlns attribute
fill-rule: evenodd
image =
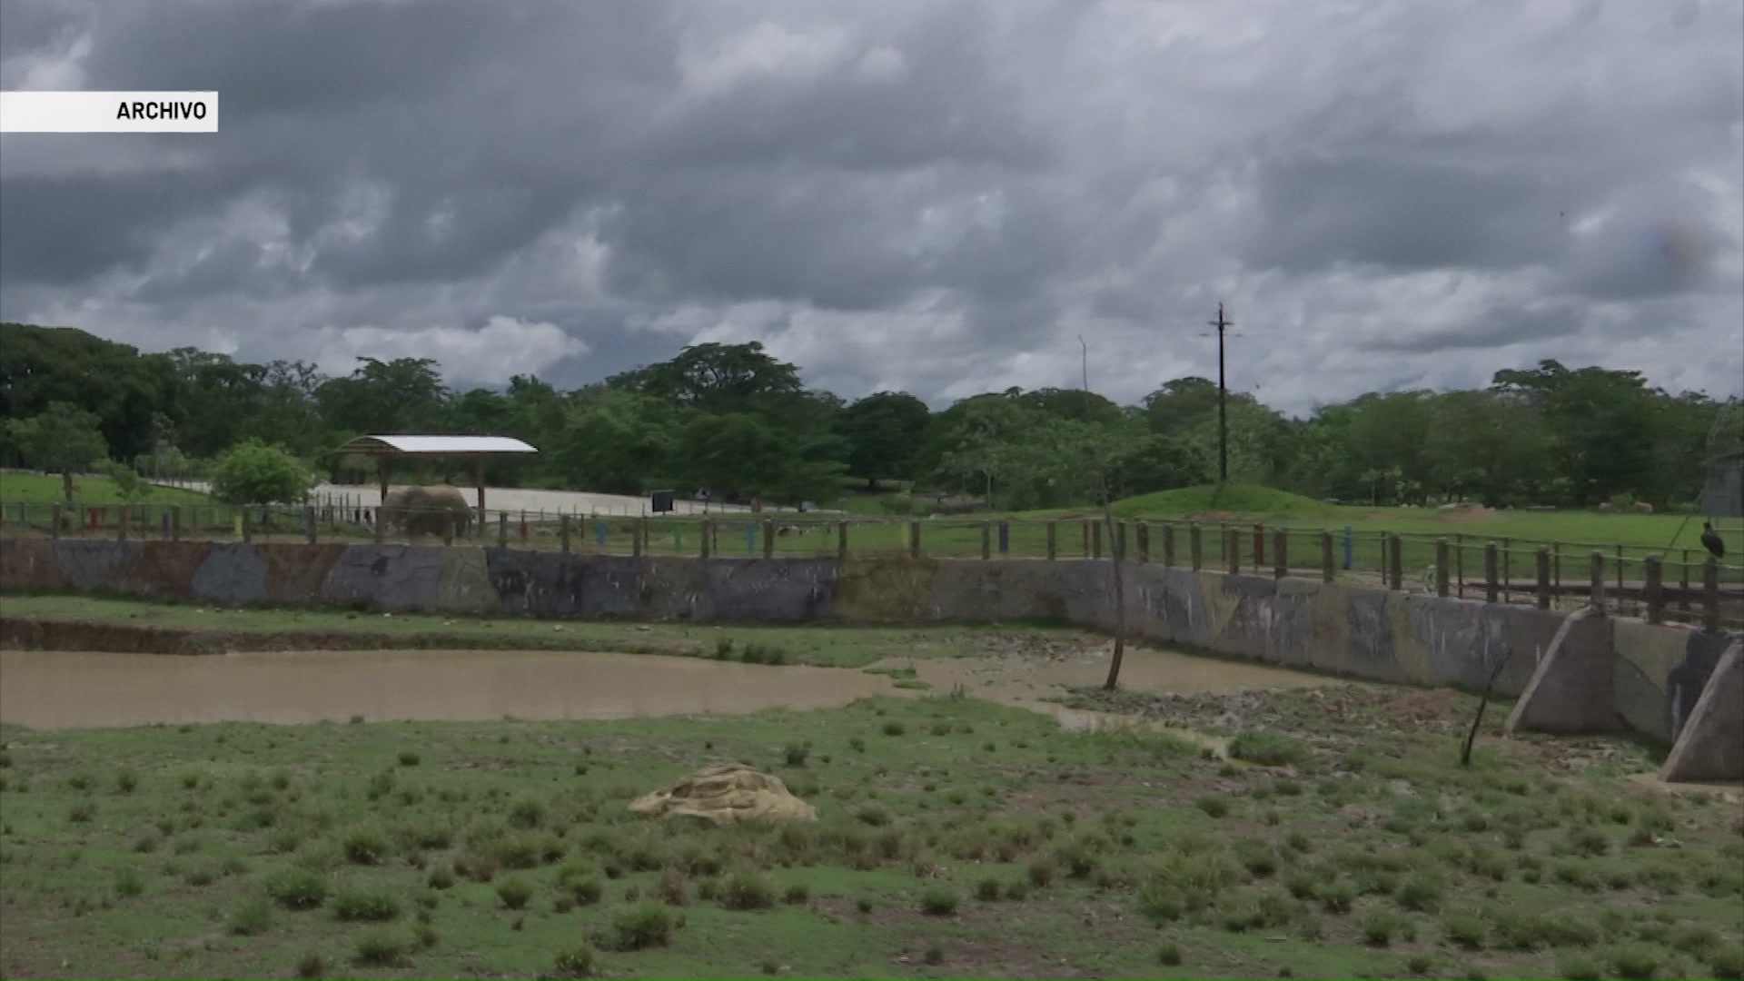
<svg viewBox="0 0 1744 981"><path fill-rule="evenodd" d="M488 510L412 515L406 534L373 508L0 503L7 534L206 541L441 541L589 555L1109 559L1228 573L1317 576L1434 595L1566 609L1599 604L1650 621L1744 625L1744 566L1700 550L1472 534L1266 527L1175 520L839 518L837 515L612 517Z"/></svg>

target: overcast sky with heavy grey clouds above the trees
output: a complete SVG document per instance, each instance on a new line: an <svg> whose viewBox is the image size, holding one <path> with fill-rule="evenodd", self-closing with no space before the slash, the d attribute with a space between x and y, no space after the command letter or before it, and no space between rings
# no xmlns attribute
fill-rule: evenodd
<svg viewBox="0 0 1744 981"><path fill-rule="evenodd" d="M762 340L935 407L1744 389L1739 0L0 0L0 319L563 388Z"/></svg>

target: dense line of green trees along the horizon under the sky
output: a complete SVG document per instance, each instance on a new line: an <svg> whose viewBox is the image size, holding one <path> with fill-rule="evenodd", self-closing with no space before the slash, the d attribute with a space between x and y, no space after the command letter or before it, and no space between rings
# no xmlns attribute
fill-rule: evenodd
<svg viewBox="0 0 1744 981"><path fill-rule="evenodd" d="M1217 386L1207 379L1165 382L1139 405L1013 388L933 412L907 393L846 401L807 388L755 342L685 347L572 391L532 375L457 391L426 358L359 358L349 375L328 377L303 361L140 353L75 328L7 323L0 410L0 459L42 470L108 459L185 471L232 447L270 445L326 478L363 478L363 463L337 452L351 436L488 433L541 450L492 461L492 484L708 487L767 503L916 482L1015 510L1093 503L1104 477L1116 497L1217 477ZM1233 482L1322 499L1676 506L1697 496L1714 442L1744 442L1744 408L1664 391L1634 370L1540 361L1498 370L1482 389L1369 393L1306 417L1230 393L1228 429Z"/></svg>

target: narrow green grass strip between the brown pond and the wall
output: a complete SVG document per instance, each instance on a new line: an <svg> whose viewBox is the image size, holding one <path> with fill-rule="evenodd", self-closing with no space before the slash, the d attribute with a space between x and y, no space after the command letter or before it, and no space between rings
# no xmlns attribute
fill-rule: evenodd
<svg viewBox="0 0 1744 981"><path fill-rule="evenodd" d="M746 663L809 663L820 667L867 667L884 658L973 656L989 644L1012 637L1078 641L1081 630L1052 625L950 625L950 627L703 627L685 623L610 623L588 620L534 620L525 616L439 616L396 613L392 616L323 609L225 609L197 604L162 604L82 595L9 595L5 616L124 623L216 632L218 635L270 635L276 648L295 649L298 635L385 637L405 648L427 649L562 649L664 653ZM562 627L562 630L555 630ZM309 646L309 641L303 642ZM898 686L916 688L912 672L893 672ZM907 684L903 684L907 683ZM406 747L408 759L420 759ZM403 766L410 766L401 761Z"/></svg>

